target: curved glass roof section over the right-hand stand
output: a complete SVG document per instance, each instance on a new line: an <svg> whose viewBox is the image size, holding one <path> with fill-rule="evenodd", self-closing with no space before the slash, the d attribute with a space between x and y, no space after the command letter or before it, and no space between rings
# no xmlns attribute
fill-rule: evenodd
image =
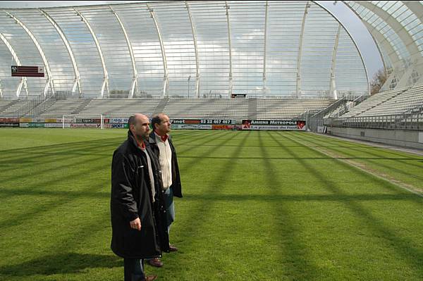
<svg viewBox="0 0 423 281"><path fill-rule="evenodd" d="M385 89L415 85L423 73L423 6L417 1L345 1L367 25L387 73ZM421 81L423 82L423 81Z"/></svg>

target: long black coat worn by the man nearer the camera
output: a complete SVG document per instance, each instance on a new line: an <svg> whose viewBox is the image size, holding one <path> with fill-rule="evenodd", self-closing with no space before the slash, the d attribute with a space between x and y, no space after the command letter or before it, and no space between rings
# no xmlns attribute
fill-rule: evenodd
<svg viewBox="0 0 423 281"><path fill-rule="evenodd" d="M152 258L168 252L160 165L148 146L146 149L154 174L154 204L147 157L130 131L114 151L111 163L111 249L123 258ZM130 228L135 218L141 220L141 231Z"/></svg>

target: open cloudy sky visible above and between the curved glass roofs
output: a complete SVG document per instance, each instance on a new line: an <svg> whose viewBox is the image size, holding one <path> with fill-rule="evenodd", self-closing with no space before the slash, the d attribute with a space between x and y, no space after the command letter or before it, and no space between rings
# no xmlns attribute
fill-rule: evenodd
<svg viewBox="0 0 423 281"><path fill-rule="evenodd" d="M146 1L1 1L0 8L38 8L51 6L82 6L96 4L118 4ZM356 42L367 68L369 79L371 80L374 73L383 67L379 51L377 51L374 41L364 27L357 15L353 13L342 1L317 1L324 6L344 25L345 29L350 32Z"/></svg>

